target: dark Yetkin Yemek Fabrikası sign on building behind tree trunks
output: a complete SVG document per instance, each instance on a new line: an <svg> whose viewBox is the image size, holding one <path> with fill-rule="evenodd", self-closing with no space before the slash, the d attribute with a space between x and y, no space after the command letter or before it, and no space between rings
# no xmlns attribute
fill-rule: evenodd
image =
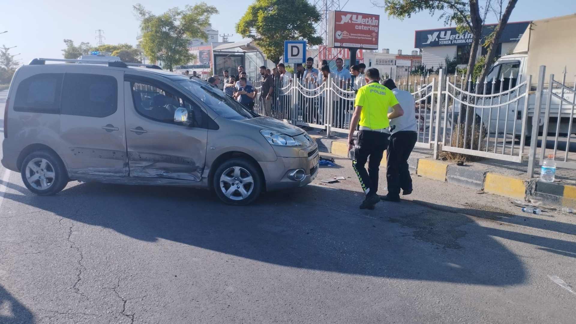
<svg viewBox="0 0 576 324"><path fill-rule="evenodd" d="M504 27L499 43L516 43L522 37L529 21L509 22ZM484 25L482 27L482 38L490 35L497 25ZM429 29L414 32L414 47L434 47L434 46L457 46L472 44L472 34L469 32L458 33L456 28Z"/></svg>

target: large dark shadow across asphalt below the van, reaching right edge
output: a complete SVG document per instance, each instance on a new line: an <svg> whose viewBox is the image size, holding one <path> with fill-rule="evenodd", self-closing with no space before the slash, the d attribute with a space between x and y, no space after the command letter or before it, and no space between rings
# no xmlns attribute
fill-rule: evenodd
<svg viewBox="0 0 576 324"><path fill-rule="evenodd" d="M9 187L25 192L17 184ZM9 192L5 198L138 240L166 239L281 266L346 274L495 286L524 282L520 259L493 236L576 257L570 252L576 251L573 242L526 235L509 226L573 234L571 224L419 201L381 203L363 211L357 209L359 193L323 186L267 193L247 207L224 206L206 190L99 183L78 184L55 197ZM475 217L504 226L483 227Z"/></svg>

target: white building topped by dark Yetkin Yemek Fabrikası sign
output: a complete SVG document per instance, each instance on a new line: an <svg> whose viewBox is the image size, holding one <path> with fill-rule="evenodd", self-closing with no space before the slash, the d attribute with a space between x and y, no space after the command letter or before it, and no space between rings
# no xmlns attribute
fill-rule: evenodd
<svg viewBox="0 0 576 324"><path fill-rule="evenodd" d="M529 21L509 22L499 39L497 56L506 55L513 50L522 33L528 27ZM486 37L494 30L496 24L484 25L482 35ZM482 43L481 41L480 43ZM438 28L415 31L414 47L422 52L422 64L427 69L445 66L446 56L456 59L458 65L467 65L472 47L472 34L468 32L458 33L456 28ZM478 50L478 56L486 55L487 49L482 47Z"/></svg>

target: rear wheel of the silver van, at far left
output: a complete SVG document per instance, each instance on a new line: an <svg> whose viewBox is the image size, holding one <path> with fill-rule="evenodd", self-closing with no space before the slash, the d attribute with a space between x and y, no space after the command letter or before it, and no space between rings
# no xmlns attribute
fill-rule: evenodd
<svg viewBox="0 0 576 324"><path fill-rule="evenodd" d="M22 182L37 195L54 195L68 183L68 175L62 160L48 150L31 153L20 168Z"/></svg>

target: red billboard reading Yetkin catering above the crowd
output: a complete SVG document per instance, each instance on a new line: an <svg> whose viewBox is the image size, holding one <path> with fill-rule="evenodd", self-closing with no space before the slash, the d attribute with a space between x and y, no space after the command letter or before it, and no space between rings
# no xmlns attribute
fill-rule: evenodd
<svg viewBox="0 0 576 324"><path fill-rule="evenodd" d="M328 47L378 49L378 14L332 11L328 14L328 26Z"/></svg>

